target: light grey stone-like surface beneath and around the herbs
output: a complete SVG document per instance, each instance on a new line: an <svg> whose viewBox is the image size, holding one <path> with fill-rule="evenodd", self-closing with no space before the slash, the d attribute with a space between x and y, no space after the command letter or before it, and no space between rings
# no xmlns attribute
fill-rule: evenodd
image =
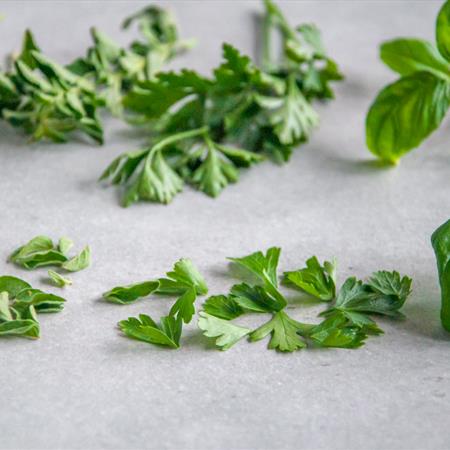
<svg viewBox="0 0 450 450"><path fill-rule="evenodd" d="M199 40L176 67L207 73L223 41L254 54L259 2L165 4L182 35ZM346 80L288 165L262 164L216 200L186 188L170 206L119 207L117 192L96 179L112 158L144 142L119 121L106 120L103 147L30 146L1 125L0 272L51 289L45 270L6 263L39 233L90 244L94 261L74 274L64 312L41 316L39 341L0 341L1 448L448 448L450 342L439 324L429 237L449 214L449 122L397 168L377 168L364 144L365 112L395 79L378 44L401 35L433 39L440 4L281 2L292 23L318 24ZM1 53L20 46L25 27L64 63L84 53L94 24L126 43L120 21L144 5L0 2ZM294 354L268 351L267 342L222 353L192 323L183 348L168 351L121 337L115 324L141 312L159 317L170 302L99 301L112 286L159 276L183 256L199 266L211 293L221 293L235 281L226 256L271 245L283 248L282 270L317 254L338 258L341 281L377 269L409 274L407 320L380 320L386 334L360 350ZM314 320L317 308L297 305L294 317Z"/></svg>

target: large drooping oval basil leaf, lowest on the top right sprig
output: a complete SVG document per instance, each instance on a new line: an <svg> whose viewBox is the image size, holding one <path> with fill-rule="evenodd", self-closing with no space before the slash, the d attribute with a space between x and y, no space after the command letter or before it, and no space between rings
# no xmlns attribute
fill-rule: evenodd
<svg viewBox="0 0 450 450"><path fill-rule="evenodd" d="M450 83L417 72L383 89L366 119L367 146L379 158L397 163L441 123L450 102Z"/></svg>

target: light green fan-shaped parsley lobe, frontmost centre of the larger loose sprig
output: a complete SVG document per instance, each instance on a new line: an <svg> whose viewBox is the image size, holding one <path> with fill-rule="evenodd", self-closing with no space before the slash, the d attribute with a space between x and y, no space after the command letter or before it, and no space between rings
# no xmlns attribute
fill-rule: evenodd
<svg viewBox="0 0 450 450"><path fill-rule="evenodd" d="M301 323L289 317L284 311L279 311L269 322L253 331L250 334L250 340L259 341L271 334L270 349L293 352L306 347L305 342L297 334L301 329Z"/></svg>

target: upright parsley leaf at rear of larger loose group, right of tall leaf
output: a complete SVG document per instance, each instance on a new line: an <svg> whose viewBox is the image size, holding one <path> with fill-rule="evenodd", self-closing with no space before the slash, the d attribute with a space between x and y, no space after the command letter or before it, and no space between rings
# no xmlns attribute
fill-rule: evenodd
<svg viewBox="0 0 450 450"><path fill-rule="evenodd" d="M336 261L325 261L323 266L313 256L306 261L306 267L284 273L288 286L296 287L308 294L329 302L336 295Z"/></svg>

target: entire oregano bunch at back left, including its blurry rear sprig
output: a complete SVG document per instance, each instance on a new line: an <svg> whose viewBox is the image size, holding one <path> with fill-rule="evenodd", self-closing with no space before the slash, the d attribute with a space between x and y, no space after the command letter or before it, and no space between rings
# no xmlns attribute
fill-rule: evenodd
<svg viewBox="0 0 450 450"><path fill-rule="evenodd" d="M0 114L21 127L32 140L66 142L78 131L103 143L99 108L122 113L122 97L137 80L152 79L164 63L192 45L178 38L172 16L157 7L128 17L123 28L137 23L142 40L121 48L96 29L84 58L62 66L42 54L31 31L12 66L0 73Z"/></svg>

